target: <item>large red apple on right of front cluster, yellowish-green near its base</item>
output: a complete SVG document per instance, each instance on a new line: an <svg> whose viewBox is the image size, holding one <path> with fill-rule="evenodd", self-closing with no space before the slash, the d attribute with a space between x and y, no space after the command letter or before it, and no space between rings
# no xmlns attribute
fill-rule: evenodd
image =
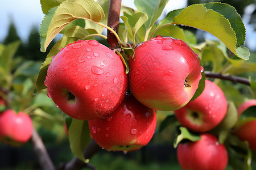
<svg viewBox="0 0 256 170"><path fill-rule="evenodd" d="M174 111L195 94L201 79L198 55L182 40L157 36L135 48L129 88L149 108Z"/></svg>

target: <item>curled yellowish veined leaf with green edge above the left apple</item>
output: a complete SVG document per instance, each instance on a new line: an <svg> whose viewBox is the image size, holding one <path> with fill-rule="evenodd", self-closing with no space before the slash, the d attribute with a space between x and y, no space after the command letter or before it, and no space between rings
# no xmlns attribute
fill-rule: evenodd
<svg viewBox="0 0 256 170"><path fill-rule="evenodd" d="M66 25L77 18L100 22L104 18L104 11L97 2L93 0L67 0L57 7L51 8L44 17L41 27L41 51L46 48L53 38Z"/></svg>

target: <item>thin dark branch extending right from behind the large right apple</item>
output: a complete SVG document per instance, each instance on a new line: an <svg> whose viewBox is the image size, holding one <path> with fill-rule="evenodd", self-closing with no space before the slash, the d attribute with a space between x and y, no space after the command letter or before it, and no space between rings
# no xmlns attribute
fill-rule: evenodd
<svg viewBox="0 0 256 170"><path fill-rule="evenodd" d="M247 86L250 86L249 79L243 78L241 76L223 75L221 73L211 73L210 71L205 71L204 73L205 73L205 76L207 76L209 78L229 80L230 82L233 82L233 83L241 83L241 84L245 84Z"/></svg>

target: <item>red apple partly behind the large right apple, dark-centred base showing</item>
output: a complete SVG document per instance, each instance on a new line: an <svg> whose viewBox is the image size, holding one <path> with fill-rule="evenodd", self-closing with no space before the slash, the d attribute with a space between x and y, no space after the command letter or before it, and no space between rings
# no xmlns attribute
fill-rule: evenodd
<svg viewBox="0 0 256 170"><path fill-rule="evenodd" d="M220 124L227 109L228 103L220 87L205 80L202 94L174 113L182 126L192 131L205 132Z"/></svg>

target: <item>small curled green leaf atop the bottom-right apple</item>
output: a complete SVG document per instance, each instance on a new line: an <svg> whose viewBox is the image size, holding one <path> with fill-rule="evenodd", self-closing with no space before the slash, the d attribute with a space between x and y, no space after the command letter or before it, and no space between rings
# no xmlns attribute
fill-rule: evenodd
<svg viewBox="0 0 256 170"><path fill-rule="evenodd" d="M198 140L201 139L200 134L193 133L185 127L181 126L179 129L180 129L180 134L177 135L177 138L175 139L175 142L174 142L174 147L175 148L184 139L188 139L189 141L193 141L193 142L198 141Z"/></svg>

